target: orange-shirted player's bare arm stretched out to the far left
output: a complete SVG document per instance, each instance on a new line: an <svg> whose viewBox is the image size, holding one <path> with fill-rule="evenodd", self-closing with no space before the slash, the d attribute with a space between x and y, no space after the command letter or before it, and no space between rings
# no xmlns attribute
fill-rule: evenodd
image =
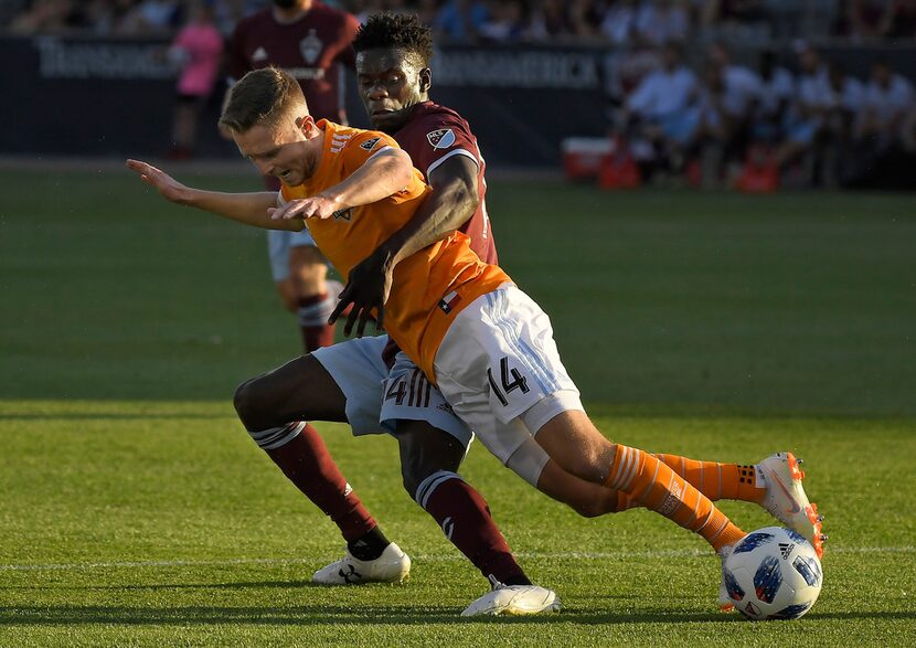
<svg viewBox="0 0 916 648"><path fill-rule="evenodd" d="M301 220L275 221L270 219L268 210L277 204L276 192L204 191L182 184L161 169L140 160L127 160L127 168L138 173L140 180L153 187L162 198L175 204L198 208L253 227L295 231L305 227Z"/></svg>

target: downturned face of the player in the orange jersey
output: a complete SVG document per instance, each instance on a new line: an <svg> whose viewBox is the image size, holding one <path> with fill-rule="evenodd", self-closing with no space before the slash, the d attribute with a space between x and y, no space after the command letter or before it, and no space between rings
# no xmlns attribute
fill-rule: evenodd
<svg viewBox="0 0 916 648"><path fill-rule="evenodd" d="M233 139L262 176L295 187L306 181L312 168L309 160L313 151L307 145L315 121L310 116L303 119L301 127L291 123L273 128L257 124L245 132L233 132Z"/></svg>

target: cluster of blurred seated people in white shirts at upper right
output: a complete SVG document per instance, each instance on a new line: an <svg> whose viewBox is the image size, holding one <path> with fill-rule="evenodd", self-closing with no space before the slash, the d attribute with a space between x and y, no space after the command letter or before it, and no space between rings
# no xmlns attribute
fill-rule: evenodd
<svg viewBox="0 0 916 648"><path fill-rule="evenodd" d="M764 50L756 68L721 42L699 72L678 42L658 52L633 83L624 75L613 97L616 159L636 167L630 177L677 174L750 191L916 180L916 94L886 60L860 79L801 41L793 60Z"/></svg>

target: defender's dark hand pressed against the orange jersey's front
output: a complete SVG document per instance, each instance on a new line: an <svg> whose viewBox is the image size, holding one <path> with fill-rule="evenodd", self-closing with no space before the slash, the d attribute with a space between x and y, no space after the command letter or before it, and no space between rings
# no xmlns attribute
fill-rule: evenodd
<svg viewBox="0 0 916 648"><path fill-rule="evenodd" d="M384 328L385 302L391 295L392 285L392 269L387 259L388 255L376 251L353 266L347 287L340 294L340 301L328 318L328 323L334 323L350 307L343 334L350 336L355 323L356 336L362 337L365 333L365 325L373 319L376 332Z"/></svg>

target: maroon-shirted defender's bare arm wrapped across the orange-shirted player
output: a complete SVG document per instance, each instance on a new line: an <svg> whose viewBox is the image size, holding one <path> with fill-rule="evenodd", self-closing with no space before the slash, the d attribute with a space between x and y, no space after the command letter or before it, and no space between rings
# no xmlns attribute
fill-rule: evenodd
<svg viewBox="0 0 916 648"><path fill-rule="evenodd" d="M373 311L376 314L375 329L382 328L394 266L448 236L477 210L477 164L466 156L449 158L436 169L429 180L433 192L407 224L350 270L347 287L340 294L340 300L329 319L333 323L352 305L343 329L345 334L349 336L356 323L356 333L362 336Z"/></svg>

